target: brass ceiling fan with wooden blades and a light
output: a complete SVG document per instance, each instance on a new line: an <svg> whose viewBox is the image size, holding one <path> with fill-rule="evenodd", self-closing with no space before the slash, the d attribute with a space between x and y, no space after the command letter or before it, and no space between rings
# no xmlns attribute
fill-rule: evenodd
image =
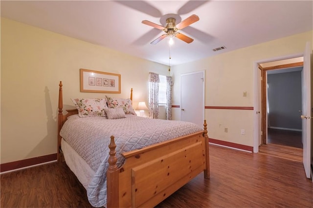
<svg viewBox="0 0 313 208"><path fill-rule="evenodd" d="M192 38L186 35L183 35L179 33L178 31L199 20L200 19L197 15L191 15L190 17L179 22L178 24L176 24L175 18L167 18L165 27L163 27L162 25L153 23L151 21L147 21L147 20L141 21L141 23L155 27L156 29L159 29L159 30L163 30L166 33L158 37L153 42L151 42L151 44L156 44L160 42L161 40L163 40L165 37L168 37L168 38L176 37L184 42L191 43L194 41Z"/></svg>

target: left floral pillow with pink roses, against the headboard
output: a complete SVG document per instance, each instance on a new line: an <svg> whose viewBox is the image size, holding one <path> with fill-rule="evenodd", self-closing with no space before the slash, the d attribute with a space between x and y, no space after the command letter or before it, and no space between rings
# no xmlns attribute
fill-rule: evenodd
<svg viewBox="0 0 313 208"><path fill-rule="evenodd" d="M106 116L108 108L106 98L98 99L71 99L78 110L79 117Z"/></svg>

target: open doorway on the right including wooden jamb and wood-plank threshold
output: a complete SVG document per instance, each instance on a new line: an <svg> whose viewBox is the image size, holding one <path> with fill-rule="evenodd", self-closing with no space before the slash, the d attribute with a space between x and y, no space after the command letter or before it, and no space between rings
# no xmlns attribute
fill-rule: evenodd
<svg viewBox="0 0 313 208"><path fill-rule="evenodd" d="M301 162L303 160L303 57L259 64L262 73L259 152Z"/></svg>

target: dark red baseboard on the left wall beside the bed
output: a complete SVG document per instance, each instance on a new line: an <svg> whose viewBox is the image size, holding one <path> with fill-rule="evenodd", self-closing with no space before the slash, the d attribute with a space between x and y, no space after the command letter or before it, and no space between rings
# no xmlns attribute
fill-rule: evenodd
<svg viewBox="0 0 313 208"><path fill-rule="evenodd" d="M28 166L35 166L38 164L43 164L57 159L57 153L44 155L40 157L29 158L25 160L14 161L10 163L4 163L0 165L0 172L11 171L15 169L21 169Z"/></svg>

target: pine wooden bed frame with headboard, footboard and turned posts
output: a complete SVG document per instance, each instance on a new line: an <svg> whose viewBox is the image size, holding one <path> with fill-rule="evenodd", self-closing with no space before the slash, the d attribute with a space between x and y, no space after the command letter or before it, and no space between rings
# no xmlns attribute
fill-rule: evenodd
<svg viewBox="0 0 313 208"><path fill-rule="evenodd" d="M133 89L131 90L131 99ZM60 131L67 117L63 115L62 82L59 84L58 162L62 161ZM122 153L126 158L116 166L114 136L111 136L107 171L107 207L155 207L201 172L210 177L209 138L206 121L203 131Z"/></svg>

